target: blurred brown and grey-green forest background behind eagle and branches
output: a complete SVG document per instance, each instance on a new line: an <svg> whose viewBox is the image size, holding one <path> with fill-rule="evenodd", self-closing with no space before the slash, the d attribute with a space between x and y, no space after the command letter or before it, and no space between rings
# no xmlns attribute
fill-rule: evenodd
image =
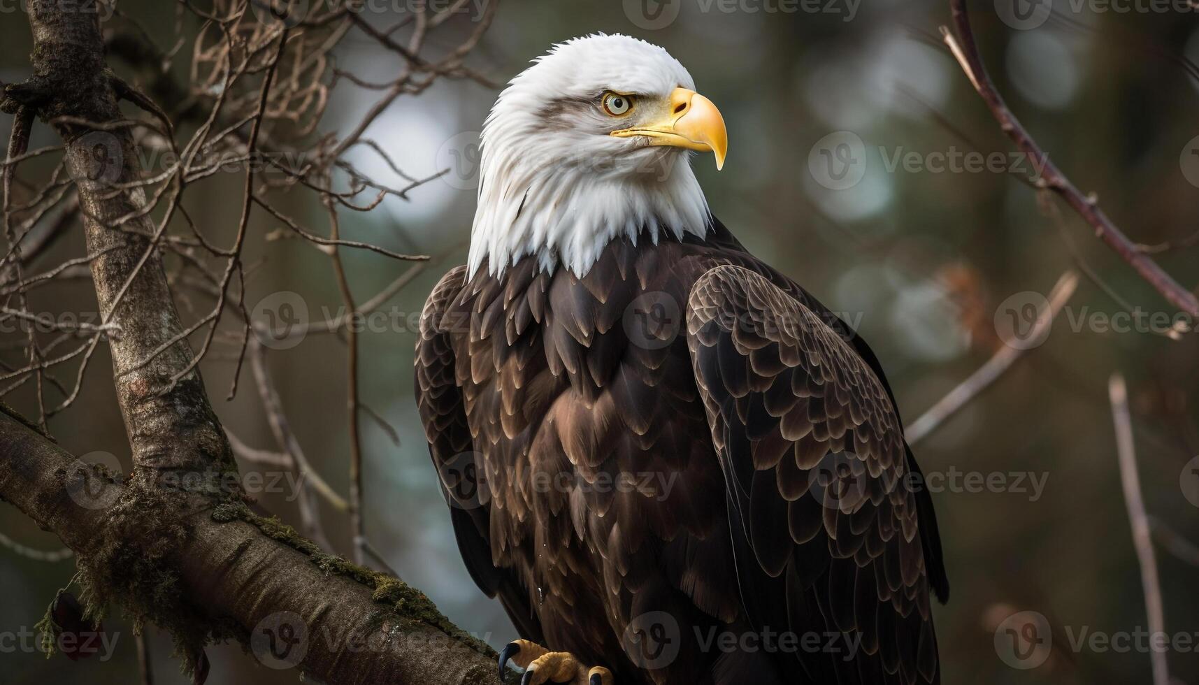
<svg viewBox="0 0 1199 685"><path fill-rule="evenodd" d="M373 10L363 17L391 26L415 1L368 4ZM456 32L469 34L482 4L490 1L468 4L428 49L457 44ZM1053 5L1049 20L1018 29L1002 20L990 0L971 2L992 77L1079 188L1093 192L1133 240L1181 242L1156 257L1185 286L1199 283L1199 247L1187 247L1199 216L1199 156L1192 154L1199 145L1199 14L1176 7L1115 12L1097 11L1108 5ZM161 48L174 42L173 2L122 0L119 8L149 28ZM724 170L717 173L706 157L694 160L713 212L751 251L857 325L887 369L909 423L1005 344L1001 322L1008 312L1001 304L1048 294L1062 272L1081 269L1078 292L1044 343L915 447L926 473L1004 474L1012 486L1017 474L1047 479L1040 493L1025 480L1023 487L934 494L953 587L950 603L935 609L941 662L946 683L1146 683L1150 657L1144 651L1070 645L1071 636L1086 631L1132 633L1146 625L1107 381L1113 371L1128 380L1150 515L1199 542L1199 475L1187 468L1199 455L1197 336L1117 332L1096 323L1126 310L1171 317L1175 311L1059 200L1052 204L1060 220L1043 212L1037 192L1019 178L1031 170L1026 162L1016 169L938 170L936 154L1013 149L940 42L938 26L948 23L944 0L502 0L466 64L502 84L550 44L589 32L626 32L665 47L728 122ZM121 16L104 26L112 34L131 30ZM194 32L194 25L183 31ZM19 4L0 4L0 80L29 76L30 47ZM183 50L173 65L181 83L189 70L186 55ZM368 82L392 78L399 68L394 55L380 54L356 31L337 56L338 68ZM131 82L143 78L120 59L110 56L109 64ZM465 260L477 131L498 92L470 80L441 79L398 98L368 134L412 176L448 172L412 190L406 202L388 197L369 212L341 216L344 238L434 256L382 306L386 322L361 336L361 396L398 434L397 444L378 421L362 422L367 534L405 581L493 645L516 633L499 603L475 588L459 558L414 407L411 368L414 326L424 298L441 274ZM375 92L339 80L319 131L353 125L375 100ZM170 110L180 103L161 104ZM11 118L0 118L0 130L10 125ZM864 175L851 187L831 188L809 162L819 158L821 140L844 132L862 142ZM58 139L48 127L35 126L30 148L53 144ZM916 152L922 162L888 169L897 152ZM404 185L369 150L362 150L357 163L381 182ZM233 239L243 182L240 169L217 174L185 203L222 245ZM281 196L275 204L324 233L325 210L313 196ZM302 240L267 240L278 227L263 211L251 222L247 308L296 293L312 320L336 316L342 298L327 256ZM42 259L52 265L83 254L82 234L73 230ZM343 259L360 300L410 268L366 251L343 251ZM32 298L34 311L49 313L96 307L86 278L46 286ZM187 304L180 306L185 319L194 320ZM19 343L23 334L8 324L4 340ZM12 347L2 354L20 365ZM237 439L271 447L257 392L246 385L234 399L223 399L235 353L222 345L203 363L210 395ZM348 487L344 354L338 336L315 334L269 354L283 405L313 468L341 493ZM128 468L110 375L101 345L83 395L49 427L72 452L108 452ZM28 384L8 401L29 409ZM254 470L270 467L242 463L243 474ZM259 499L296 522L294 491ZM349 553L345 517L326 506L324 523L333 547ZM0 507L0 631L32 630L55 589L74 572L73 561L18 553L16 545L55 551L60 543L12 507ZM1192 636L1188 649L1170 651L1170 669L1177 681L1197 683L1197 567L1161 546L1157 555L1167 630ZM996 650L996 627L1019 611L1038 612L1054 629L1054 653L1026 671L1007 665ZM106 625L119 635L107 662L47 661L40 653L18 650L0 656L0 680L134 683L129 626L120 615ZM187 681L170 660L168 636L150 630L149 638L156 681ZM236 645L210 648L209 656L210 683L296 679L295 672L259 667Z"/></svg>

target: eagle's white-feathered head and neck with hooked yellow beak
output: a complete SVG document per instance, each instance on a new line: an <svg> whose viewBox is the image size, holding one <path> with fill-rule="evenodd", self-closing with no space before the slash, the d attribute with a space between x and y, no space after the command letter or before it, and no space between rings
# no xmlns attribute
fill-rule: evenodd
<svg viewBox="0 0 1199 685"><path fill-rule="evenodd" d="M679 60L621 35L574 38L500 94L481 136L469 270L523 258L582 277L616 238L703 236L707 200L687 156L724 164L728 133Z"/></svg>

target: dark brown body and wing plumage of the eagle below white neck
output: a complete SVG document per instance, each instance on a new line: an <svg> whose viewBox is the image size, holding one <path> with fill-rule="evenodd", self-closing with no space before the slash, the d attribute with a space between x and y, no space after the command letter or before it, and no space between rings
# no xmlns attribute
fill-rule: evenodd
<svg viewBox="0 0 1199 685"><path fill-rule="evenodd" d="M936 523L879 362L719 222L616 239L584 278L450 271L416 397L522 637L619 684L940 680Z"/></svg>

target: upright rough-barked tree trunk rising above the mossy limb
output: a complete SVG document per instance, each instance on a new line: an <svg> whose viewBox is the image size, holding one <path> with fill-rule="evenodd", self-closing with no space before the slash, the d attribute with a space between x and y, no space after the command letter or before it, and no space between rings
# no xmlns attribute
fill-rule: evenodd
<svg viewBox="0 0 1199 685"><path fill-rule="evenodd" d="M110 347L134 477L235 469L200 374L192 369L173 383L191 363L192 349L181 336L162 258L152 246L155 224L147 216L120 223L145 206L145 193L140 187L114 190L137 180L140 169L129 128L113 126L122 115L104 64L98 16L86 6L79 0L29 2L34 78L24 88L67 145L88 252L103 253L91 270L100 313L120 329ZM97 130L78 120L107 126Z"/></svg>

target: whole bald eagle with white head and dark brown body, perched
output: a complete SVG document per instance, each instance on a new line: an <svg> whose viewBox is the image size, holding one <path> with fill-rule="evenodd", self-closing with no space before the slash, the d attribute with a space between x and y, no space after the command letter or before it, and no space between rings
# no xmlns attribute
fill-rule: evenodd
<svg viewBox="0 0 1199 685"><path fill-rule="evenodd" d="M938 683L948 583L870 348L709 211L716 106L664 49L555 46L483 125L416 399L524 681Z"/></svg>

